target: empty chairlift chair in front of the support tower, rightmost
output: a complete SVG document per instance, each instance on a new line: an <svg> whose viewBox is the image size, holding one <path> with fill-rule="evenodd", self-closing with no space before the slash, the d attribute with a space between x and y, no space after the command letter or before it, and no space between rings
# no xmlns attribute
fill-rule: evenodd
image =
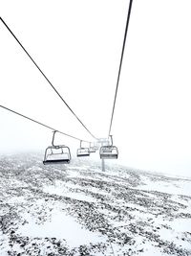
<svg viewBox="0 0 191 256"><path fill-rule="evenodd" d="M117 147L113 146L112 135L110 135L110 138L111 138L111 145L102 146L100 148L99 154L101 159L117 159L118 157Z"/></svg>

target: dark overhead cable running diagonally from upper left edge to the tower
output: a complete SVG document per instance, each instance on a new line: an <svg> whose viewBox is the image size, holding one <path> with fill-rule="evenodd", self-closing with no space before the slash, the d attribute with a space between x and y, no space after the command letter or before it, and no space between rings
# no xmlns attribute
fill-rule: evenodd
<svg viewBox="0 0 191 256"><path fill-rule="evenodd" d="M93 135L93 133L82 123L82 121L77 117L77 115L74 113L73 109L66 103L66 101L62 98L62 96L58 93L58 91L53 86L53 83L47 78L47 76L44 74L44 72L39 68L39 66L36 64L36 62L33 60L31 55L28 53L28 51L24 48L24 46L21 44L21 42L18 40L18 38L12 33L10 27L6 24L6 22L0 17L0 20L5 25L5 27L8 29L8 31L11 33L11 35L14 37L14 39L17 41L17 43L21 46L21 48L24 50L24 52L28 55L29 58L31 58L33 64L37 67L37 69L40 71L40 73L43 75L43 77L46 79L46 81L49 82L49 84L52 86L55 93L59 96L59 98L62 100L62 102L69 108L69 110L74 114L74 117L79 121L79 123L85 128L89 134L96 139L96 137Z"/></svg>

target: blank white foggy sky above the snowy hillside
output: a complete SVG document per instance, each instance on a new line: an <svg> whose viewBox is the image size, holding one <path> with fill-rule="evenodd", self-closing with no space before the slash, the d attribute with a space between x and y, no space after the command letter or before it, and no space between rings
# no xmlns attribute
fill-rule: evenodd
<svg viewBox="0 0 191 256"><path fill-rule="evenodd" d="M128 4L0 1L1 17L97 137L108 134ZM112 128L118 164L191 175L190 11L190 0L133 3ZM2 23L0 45L0 105L90 140ZM0 120L1 152L51 144L47 128L4 109ZM78 142L59 139L76 151Z"/></svg>

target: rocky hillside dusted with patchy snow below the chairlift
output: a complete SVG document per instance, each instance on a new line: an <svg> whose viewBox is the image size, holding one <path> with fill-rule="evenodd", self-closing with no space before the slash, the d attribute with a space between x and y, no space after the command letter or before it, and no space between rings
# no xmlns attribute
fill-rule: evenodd
<svg viewBox="0 0 191 256"><path fill-rule="evenodd" d="M191 179L0 157L0 256L191 255Z"/></svg>

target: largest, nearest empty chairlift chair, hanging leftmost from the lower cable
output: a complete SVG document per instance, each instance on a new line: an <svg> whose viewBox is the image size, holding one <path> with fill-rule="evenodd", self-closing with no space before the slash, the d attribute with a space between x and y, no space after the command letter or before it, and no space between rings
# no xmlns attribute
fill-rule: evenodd
<svg viewBox="0 0 191 256"><path fill-rule="evenodd" d="M53 130L53 140L56 130ZM65 145L55 146L52 141L52 146L49 146L45 151L44 165L49 164L69 164L71 161L71 151Z"/></svg>

